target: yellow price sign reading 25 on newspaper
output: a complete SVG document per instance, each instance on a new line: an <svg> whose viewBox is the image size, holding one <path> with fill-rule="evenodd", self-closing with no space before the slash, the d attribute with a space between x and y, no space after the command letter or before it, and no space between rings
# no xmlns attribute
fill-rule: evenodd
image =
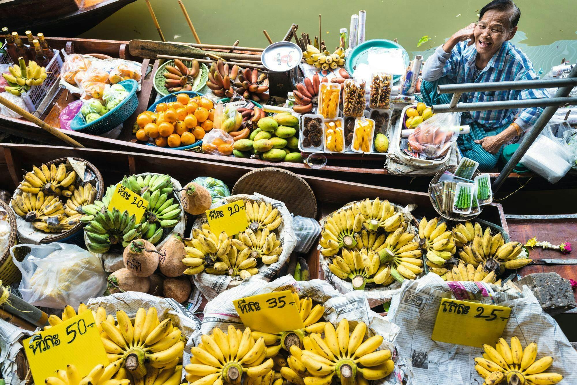
<svg viewBox="0 0 577 385"><path fill-rule="evenodd" d="M431 339L476 348L495 345L510 314L509 307L443 298Z"/></svg>

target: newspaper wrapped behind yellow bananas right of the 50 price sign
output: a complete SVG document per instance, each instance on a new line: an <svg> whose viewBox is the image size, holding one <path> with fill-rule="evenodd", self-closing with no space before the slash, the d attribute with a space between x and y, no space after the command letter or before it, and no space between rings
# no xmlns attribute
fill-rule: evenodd
<svg viewBox="0 0 577 385"><path fill-rule="evenodd" d="M126 292L91 299L88 301L87 306L93 311L102 306L106 310L106 314L112 314L113 316L116 315L117 311L122 310L128 314L130 319L134 319L138 308L148 309L149 307L155 307L158 312L158 318L161 321L170 318L173 325L178 327L186 338L183 365L190 362L190 348L196 346L192 341L196 338L200 339L200 320L196 315L171 298L160 298L146 293ZM184 371L182 373L185 375Z"/></svg>

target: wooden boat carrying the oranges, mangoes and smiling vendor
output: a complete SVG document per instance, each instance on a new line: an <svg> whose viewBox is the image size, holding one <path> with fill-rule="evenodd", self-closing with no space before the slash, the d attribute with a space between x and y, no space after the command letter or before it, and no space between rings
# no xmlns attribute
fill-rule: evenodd
<svg viewBox="0 0 577 385"><path fill-rule="evenodd" d="M136 112L128 120L126 120L121 135L118 139L108 139L99 136L78 133L76 131L66 131L66 134L73 137L78 142L88 148L106 149L113 151L128 151L160 154L162 156L182 157L192 160L208 160L229 164L237 164L242 167L282 167L289 169L296 173L305 175L316 175L324 177L338 178L341 180L351 180L359 183L379 184L381 186L389 187L405 187L411 183L411 188L417 191L426 191L430 182L430 176L422 178L413 178L412 176L393 176L388 175L387 169L384 168L384 158L379 160L373 159L333 159L328 157L328 164L323 169L311 169L306 164L302 163L287 163L280 162L272 164L269 161L259 159L246 159L231 156L218 156L211 154L202 154L193 151L173 150L170 148L160 148L157 146L148 146L137 142L132 134L132 127L140 112L145 111L156 97L156 91L153 88L153 74L159 66L158 60L150 60L138 58L130 55L128 50L128 41L119 40L92 40L92 39L68 39L60 37L47 37L46 40L51 47L56 49L63 49L68 54L101 54L108 55L114 58L129 59L143 63L143 73L148 68L152 67L152 71L144 78L142 89L138 93L138 108ZM65 107L73 98L70 97L68 91L55 88L54 97L48 100L44 107L37 112L38 116L47 123L58 127L59 112ZM33 141L48 145L62 145L59 139L48 134L46 131L40 129L35 124L23 119L8 118L0 115L0 131L5 133L24 137ZM338 177L336 177L338 173ZM496 178L498 173L492 173L492 178ZM519 179L523 182L529 178L531 174L516 174L509 175L508 181L501 188L502 191L514 191L519 187ZM554 185L554 187L540 178L531 180L524 190L548 190L549 188L575 188L577 187L577 174L566 176L561 182Z"/></svg>

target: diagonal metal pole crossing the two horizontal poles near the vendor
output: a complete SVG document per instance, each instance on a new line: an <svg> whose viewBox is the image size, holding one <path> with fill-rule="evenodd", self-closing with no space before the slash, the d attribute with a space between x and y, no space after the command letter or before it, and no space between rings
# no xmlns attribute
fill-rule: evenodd
<svg viewBox="0 0 577 385"><path fill-rule="evenodd" d="M577 78L577 66L573 66L571 72L569 72L568 77ZM561 87L557 90L557 93L555 93L554 97L566 97L567 95L569 95L569 92L571 92L572 89L573 89L572 86ZM508 178L509 173L511 173L512 169L519 163L523 155L527 152L527 150L533 144L535 139L537 139L537 136L541 133L545 125L549 123L549 120L553 117L553 115L557 111L557 108L559 107L545 108L545 110L541 113L541 115L537 119L537 122L535 122L534 126L531 127L529 131L527 131L526 137L519 145L519 148L515 151L515 153L513 154L511 159L509 159L507 164L505 164L505 167L503 168L503 170L501 170L501 173L499 174L499 176L497 176L497 179L495 179L495 181L493 182L491 186L493 193L499 190L501 185L503 185L505 180Z"/></svg>

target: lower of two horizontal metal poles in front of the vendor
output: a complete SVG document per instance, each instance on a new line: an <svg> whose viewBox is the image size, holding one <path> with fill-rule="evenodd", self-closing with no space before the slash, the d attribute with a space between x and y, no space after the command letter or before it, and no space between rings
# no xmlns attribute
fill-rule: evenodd
<svg viewBox="0 0 577 385"><path fill-rule="evenodd" d="M456 99L455 99L456 98ZM455 93L451 104L435 104L431 107L434 114L441 112L463 112L463 111L486 111L486 110L512 110L513 108L529 107L560 107L561 105L577 104L577 96L574 97L542 97L539 99L504 100L504 101L481 101L479 103L456 104L460 98L460 93ZM453 106L453 102L455 105Z"/></svg>

